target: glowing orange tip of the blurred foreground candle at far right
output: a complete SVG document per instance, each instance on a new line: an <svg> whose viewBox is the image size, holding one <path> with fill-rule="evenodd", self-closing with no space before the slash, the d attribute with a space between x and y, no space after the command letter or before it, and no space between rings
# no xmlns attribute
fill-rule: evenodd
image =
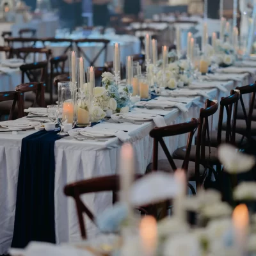
<svg viewBox="0 0 256 256"><path fill-rule="evenodd" d="M249 224L249 212L245 204L237 205L234 209L232 220L234 227L237 229L244 229Z"/></svg>

